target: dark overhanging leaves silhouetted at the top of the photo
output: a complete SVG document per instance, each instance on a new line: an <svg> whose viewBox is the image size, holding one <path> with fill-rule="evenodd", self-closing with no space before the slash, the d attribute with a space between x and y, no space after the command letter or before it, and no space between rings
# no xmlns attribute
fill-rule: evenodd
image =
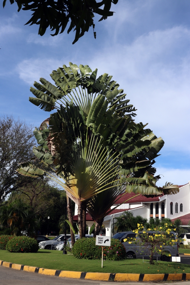
<svg viewBox="0 0 190 285"><path fill-rule="evenodd" d="M6 1L3 1L3 7ZM11 4L14 3L14 0L9 1ZM52 36L57 35L59 31L63 33L70 22L67 33L69 34L72 29L76 31L74 44L85 32L88 32L89 27L92 26L94 30L94 13L102 16L99 21L113 16L113 12L110 11L111 4L117 4L118 0L102 0L101 2L96 0L15 0L15 2L18 5L18 12L21 8L33 12L26 25L39 25L38 34L40 36L45 34L49 26L51 31L55 31ZM94 32L94 37L96 38L96 32Z"/></svg>

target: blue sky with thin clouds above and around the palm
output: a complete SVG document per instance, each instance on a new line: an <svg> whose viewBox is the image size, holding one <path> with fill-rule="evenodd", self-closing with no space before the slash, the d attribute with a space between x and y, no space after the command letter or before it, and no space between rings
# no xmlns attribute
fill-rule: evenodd
<svg viewBox="0 0 190 285"><path fill-rule="evenodd" d="M30 11L0 8L0 113L39 126L49 114L28 98L34 80L71 61L113 75L138 109L135 121L148 123L165 145L156 159L159 181L190 180L190 1L119 0L114 16L98 22L72 45L70 32L41 37L37 25L24 26Z"/></svg>

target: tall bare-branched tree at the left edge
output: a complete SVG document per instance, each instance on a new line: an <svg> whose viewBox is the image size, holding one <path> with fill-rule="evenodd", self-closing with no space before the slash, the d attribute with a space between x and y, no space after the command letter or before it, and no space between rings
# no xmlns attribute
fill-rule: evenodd
<svg viewBox="0 0 190 285"><path fill-rule="evenodd" d="M12 116L0 117L0 201L1 196L5 197L34 180L16 172L19 162L34 156L34 143L32 126Z"/></svg>

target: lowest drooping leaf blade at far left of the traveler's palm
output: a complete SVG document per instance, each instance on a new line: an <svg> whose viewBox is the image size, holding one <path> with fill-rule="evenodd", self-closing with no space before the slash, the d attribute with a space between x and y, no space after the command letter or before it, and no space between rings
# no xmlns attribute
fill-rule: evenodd
<svg viewBox="0 0 190 285"><path fill-rule="evenodd" d="M31 162L20 163L16 171L24 176L30 176L33 178L37 177L44 178L45 175L45 172L42 169L36 167Z"/></svg>

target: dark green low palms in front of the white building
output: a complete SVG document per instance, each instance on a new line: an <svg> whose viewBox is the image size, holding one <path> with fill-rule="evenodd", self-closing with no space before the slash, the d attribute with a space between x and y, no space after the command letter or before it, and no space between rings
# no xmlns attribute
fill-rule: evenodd
<svg viewBox="0 0 190 285"><path fill-rule="evenodd" d="M133 213L125 211L120 217L117 217L116 223L114 225L114 231L116 232L126 232L137 229L137 224L145 225L147 219L141 216L133 216Z"/></svg>

